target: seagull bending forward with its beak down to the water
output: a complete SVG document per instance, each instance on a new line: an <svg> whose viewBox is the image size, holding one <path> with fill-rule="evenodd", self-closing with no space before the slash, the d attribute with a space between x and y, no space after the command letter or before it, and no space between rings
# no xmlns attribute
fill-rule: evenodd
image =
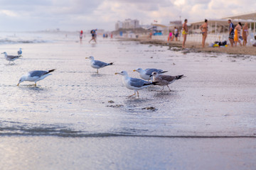
<svg viewBox="0 0 256 170"><path fill-rule="evenodd" d="M50 69L49 71L42 71L42 70L35 70L28 72L27 74L24 74L21 79L18 81L18 84L20 84L23 81L35 81L35 86L36 86L36 81L40 81L41 79L44 79L51 74L50 72L53 72L55 69ZM17 86L18 86L17 84Z"/></svg>

